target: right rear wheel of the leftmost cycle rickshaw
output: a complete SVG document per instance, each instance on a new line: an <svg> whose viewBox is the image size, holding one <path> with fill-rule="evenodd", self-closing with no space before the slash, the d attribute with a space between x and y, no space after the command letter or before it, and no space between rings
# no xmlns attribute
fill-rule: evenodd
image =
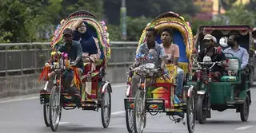
<svg viewBox="0 0 256 133"><path fill-rule="evenodd" d="M110 87L106 88L106 92L102 94L102 125L104 128L109 127L110 125L110 117L111 117L111 95L110 95Z"/></svg>

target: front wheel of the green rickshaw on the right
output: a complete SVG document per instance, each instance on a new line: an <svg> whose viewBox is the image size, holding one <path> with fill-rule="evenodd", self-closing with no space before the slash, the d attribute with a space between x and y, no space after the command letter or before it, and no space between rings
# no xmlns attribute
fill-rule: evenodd
<svg viewBox="0 0 256 133"><path fill-rule="evenodd" d="M200 124L206 123L206 104L205 104L205 96L198 96L198 103L197 103L197 116L198 116L198 122Z"/></svg>

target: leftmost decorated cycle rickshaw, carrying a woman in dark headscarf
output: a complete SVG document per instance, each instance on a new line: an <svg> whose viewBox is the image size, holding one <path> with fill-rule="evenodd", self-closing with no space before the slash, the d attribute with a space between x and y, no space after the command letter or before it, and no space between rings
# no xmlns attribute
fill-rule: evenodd
<svg viewBox="0 0 256 133"><path fill-rule="evenodd" d="M85 71L82 77L78 77L75 68L73 68L75 83L80 90L81 96L70 96L63 91L65 88L63 88L62 84L63 75L69 68L66 53L58 53L54 50L51 53L51 59L52 57L57 57L57 59L51 60L50 65L44 67L40 78L47 77L47 74L51 71L56 71L57 76L54 78L54 87L51 90L40 93L40 102L43 104L46 127L51 127L52 131L58 129L62 108L66 110L82 108L82 110L91 111L98 111L101 108L103 127L108 127L110 123L112 88L110 82L106 80L106 67L110 58L110 47L105 22L101 22L94 14L88 11L76 11L58 25L51 45L53 49L56 45L60 45L62 43L63 30L76 22L78 18L88 22L89 27L87 29L90 28L90 31L94 31L94 37L98 38L102 54L100 60L96 63L96 70L92 71L90 63L84 64ZM44 80L47 80L47 78L44 78ZM86 89L90 89L90 94L87 98Z"/></svg>

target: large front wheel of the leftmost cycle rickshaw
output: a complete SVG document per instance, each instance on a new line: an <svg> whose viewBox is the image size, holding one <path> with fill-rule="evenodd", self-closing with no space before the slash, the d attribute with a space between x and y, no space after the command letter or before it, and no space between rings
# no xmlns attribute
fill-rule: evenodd
<svg viewBox="0 0 256 133"><path fill-rule="evenodd" d="M57 131L58 124L61 118L61 102L60 102L60 92L58 86L54 85L50 93L50 128L52 131Z"/></svg>

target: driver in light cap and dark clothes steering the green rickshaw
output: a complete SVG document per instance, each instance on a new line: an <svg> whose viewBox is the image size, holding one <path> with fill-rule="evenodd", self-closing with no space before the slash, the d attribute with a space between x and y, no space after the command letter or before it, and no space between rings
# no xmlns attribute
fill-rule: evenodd
<svg viewBox="0 0 256 133"><path fill-rule="evenodd" d="M226 60L225 54L222 53L221 50L218 51L218 49L214 47L214 44L217 43L217 39L214 36L206 34L202 40L206 45L206 49L203 49L200 53L198 53L197 61L202 62L203 57L206 55L209 56L212 61ZM225 69L222 65L215 65L212 69L212 72L214 72L214 79L220 80L221 76L223 76L225 73ZM194 75L193 79L195 78L196 77Z"/></svg>

